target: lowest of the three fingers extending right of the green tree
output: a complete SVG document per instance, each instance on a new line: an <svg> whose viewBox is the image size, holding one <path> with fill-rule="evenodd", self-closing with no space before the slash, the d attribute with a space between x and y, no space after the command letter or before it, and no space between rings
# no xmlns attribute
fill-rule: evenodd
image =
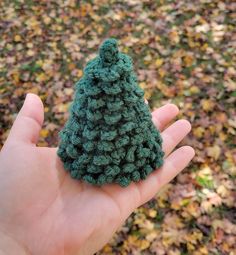
<svg viewBox="0 0 236 255"><path fill-rule="evenodd" d="M145 180L137 184L141 203L149 201L165 184L170 182L179 172L181 172L192 160L195 152L190 146L182 146L171 153L164 162L164 165L154 171Z"/></svg>

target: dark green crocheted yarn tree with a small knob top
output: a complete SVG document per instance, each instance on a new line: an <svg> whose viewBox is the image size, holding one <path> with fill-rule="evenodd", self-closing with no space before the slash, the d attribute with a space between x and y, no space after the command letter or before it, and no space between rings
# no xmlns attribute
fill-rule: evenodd
<svg viewBox="0 0 236 255"><path fill-rule="evenodd" d="M163 164L154 126L132 59L107 39L76 84L58 155L72 178L94 185L145 179Z"/></svg>

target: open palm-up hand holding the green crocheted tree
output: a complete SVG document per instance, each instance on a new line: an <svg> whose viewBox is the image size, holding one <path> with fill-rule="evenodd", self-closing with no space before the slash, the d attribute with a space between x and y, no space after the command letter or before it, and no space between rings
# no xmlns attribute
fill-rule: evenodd
<svg viewBox="0 0 236 255"><path fill-rule="evenodd" d="M70 177L57 148L36 146L43 104L38 96L28 94L0 153L0 252L86 255L101 249L135 208L150 200L193 158L189 146L172 152L191 129L186 120L165 128L177 114L172 104L152 113L162 132L162 168L127 188L117 184L95 187Z"/></svg>

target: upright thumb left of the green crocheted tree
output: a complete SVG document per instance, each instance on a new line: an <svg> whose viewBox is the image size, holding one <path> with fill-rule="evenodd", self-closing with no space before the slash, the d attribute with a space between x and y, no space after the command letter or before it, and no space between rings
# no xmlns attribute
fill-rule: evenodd
<svg viewBox="0 0 236 255"><path fill-rule="evenodd" d="M11 128L7 142L36 144L44 119L43 103L35 94L27 94Z"/></svg>

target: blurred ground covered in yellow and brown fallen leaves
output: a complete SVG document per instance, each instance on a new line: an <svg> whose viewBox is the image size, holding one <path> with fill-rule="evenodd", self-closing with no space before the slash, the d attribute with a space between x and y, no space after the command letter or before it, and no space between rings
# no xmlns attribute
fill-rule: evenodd
<svg viewBox="0 0 236 255"><path fill-rule="evenodd" d="M236 254L236 3L3 0L0 145L27 92L45 105L40 146L57 146L74 84L108 37L129 54L152 109L180 108L193 163L137 209L99 254Z"/></svg>

